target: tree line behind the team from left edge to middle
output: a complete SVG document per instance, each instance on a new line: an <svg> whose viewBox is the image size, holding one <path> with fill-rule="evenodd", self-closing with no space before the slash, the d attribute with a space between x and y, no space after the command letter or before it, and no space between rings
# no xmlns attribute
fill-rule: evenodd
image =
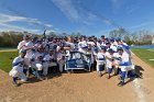
<svg viewBox="0 0 154 102"><path fill-rule="evenodd" d="M37 37L44 37L44 34L33 34L29 32L14 32L14 31L9 31L9 32L0 32L0 47L16 47L19 42L22 41L23 35L35 35ZM45 36L51 36L51 37L63 37L63 36L81 36L80 33L62 33L57 34L54 32L51 32L50 34L45 34Z"/></svg>

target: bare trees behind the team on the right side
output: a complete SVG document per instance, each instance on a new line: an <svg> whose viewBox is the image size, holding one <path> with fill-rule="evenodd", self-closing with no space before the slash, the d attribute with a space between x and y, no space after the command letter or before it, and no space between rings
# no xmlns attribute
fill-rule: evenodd
<svg viewBox="0 0 154 102"><path fill-rule="evenodd" d="M154 33L147 30L129 32L122 27L109 32L109 37L120 37L129 45L152 45Z"/></svg>

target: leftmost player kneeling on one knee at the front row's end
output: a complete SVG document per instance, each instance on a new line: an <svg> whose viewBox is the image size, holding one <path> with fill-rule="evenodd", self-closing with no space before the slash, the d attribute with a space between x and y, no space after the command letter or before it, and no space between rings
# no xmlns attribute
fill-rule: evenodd
<svg viewBox="0 0 154 102"><path fill-rule="evenodd" d="M9 72L9 75L13 78L13 84L14 86L19 86L18 83L18 79L21 79L21 81L25 82L26 81L26 77L23 72L23 67L24 67L24 56L25 56L26 52L25 50L21 50L20 52L20 56L15 57L13 63L12 63L12 70Z"/></svg>

